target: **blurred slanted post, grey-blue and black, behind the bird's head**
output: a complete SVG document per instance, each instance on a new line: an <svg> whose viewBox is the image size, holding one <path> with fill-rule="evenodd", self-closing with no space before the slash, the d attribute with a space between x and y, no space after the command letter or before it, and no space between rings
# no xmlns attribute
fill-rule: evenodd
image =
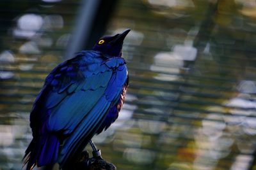
<svg viewBox="0 0 256 170"><path fill-rule="evenodd" d="M65 59L75 52L92 48L97 39L106 31L111 13L117 0L84 0L79 9L72 38L68 43Z"/></svg>

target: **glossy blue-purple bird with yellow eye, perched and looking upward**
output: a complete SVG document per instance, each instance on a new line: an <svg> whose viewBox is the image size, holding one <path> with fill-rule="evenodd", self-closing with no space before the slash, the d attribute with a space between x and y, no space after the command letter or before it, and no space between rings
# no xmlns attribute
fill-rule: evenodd
<svg viewBox="0 0 256 170"><path fill-rule="evenodd" d="M33 139L24 155L24 166L70 166L94 135L118 118L129 85L122 46L125 30L103 36L92 50L77 52L45 78L31 113Z"/></svg>

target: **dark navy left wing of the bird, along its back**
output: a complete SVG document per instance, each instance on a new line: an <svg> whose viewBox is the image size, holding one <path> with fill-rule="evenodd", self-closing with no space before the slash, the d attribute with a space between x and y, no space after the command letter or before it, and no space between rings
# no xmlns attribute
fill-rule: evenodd
<svg viewBox="0 0 256 170"><path fill-rule="evenodd" d="M77 56L61 63L45 79L44 87L36 97L30 114L30 126L34 137L44 134L47 130L45 125L53 108L59 106L63 99L72 95L75 87L78 89L79 85L86 80L79 69L80 57Z"/></svg>

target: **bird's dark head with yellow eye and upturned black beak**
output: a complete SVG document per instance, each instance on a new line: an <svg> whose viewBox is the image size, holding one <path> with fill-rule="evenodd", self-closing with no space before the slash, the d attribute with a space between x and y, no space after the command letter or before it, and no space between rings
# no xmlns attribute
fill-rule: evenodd
<svg viewBox="0 0 256 170"><path fill-rule="evenodd" d="M92 49L100 51L105 55L121 57L124 38L127 36L129 31L131 31L131 29L127 29L121 34L116 34L115 36L104 36L97 41Z"/></svg>

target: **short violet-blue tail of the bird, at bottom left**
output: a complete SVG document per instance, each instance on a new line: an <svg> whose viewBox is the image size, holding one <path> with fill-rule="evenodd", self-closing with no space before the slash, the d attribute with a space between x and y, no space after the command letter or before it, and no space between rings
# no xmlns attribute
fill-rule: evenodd
<svg viewBox="0 0 256 170"><path fill-rule="evenodd" d="M31 170L35 166L40 167L56 163L59 146L60 141L54 134L33 138L23 159L23 165L27 164L26 170Z"/></svg>

